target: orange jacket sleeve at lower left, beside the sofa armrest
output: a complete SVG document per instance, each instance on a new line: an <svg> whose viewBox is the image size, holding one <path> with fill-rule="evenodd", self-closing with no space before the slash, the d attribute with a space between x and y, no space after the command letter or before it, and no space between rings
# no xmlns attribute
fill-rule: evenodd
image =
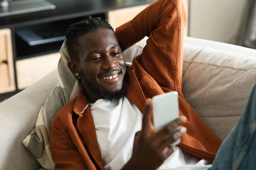
<svg viewBox="0 0 256 170"><path fill-rule="evenodd" d="M84 159L63 129L52 123L50 150L55 170L87 170Z"/></svg>

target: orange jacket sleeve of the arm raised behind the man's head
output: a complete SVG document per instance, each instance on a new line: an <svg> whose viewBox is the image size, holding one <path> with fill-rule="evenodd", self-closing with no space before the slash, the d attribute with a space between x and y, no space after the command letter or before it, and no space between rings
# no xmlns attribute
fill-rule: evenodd
<svg viewBox="0 0 256 170"><path fill-rule="evenodd" d="M147 44L137 62L160 86L176 89L182 85L185 25L182 0L157 0L133 20L116 28L116 35L125 48L147 36Z"/></svg>

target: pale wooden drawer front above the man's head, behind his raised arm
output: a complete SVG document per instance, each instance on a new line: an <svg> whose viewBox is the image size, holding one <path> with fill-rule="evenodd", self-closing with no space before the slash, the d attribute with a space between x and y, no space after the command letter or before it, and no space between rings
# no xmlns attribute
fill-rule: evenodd
<svg viewBox="0 0 256 170"><path fill-rule="evenodd" d="M129 20L132 20L137 14L139 14L148 5L135 6L135 7L108 11L108 23L110 23L110 25L115 30L117 27L121 26L122 24L128 22Z"/></svg>

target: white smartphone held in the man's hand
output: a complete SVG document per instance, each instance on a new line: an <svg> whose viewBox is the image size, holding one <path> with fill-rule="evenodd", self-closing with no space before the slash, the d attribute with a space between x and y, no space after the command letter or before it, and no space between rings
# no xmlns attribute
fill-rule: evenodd
<svg viewBox="0 0 256 170"><path fill-rule="evenodd" d="M163 129L165 125L179 117L179 102L177 91L160 94L152 98L154 127L156 132ZM179 127L177 128L179 129ZM171 144L175 146L180 139Z"/></svg>

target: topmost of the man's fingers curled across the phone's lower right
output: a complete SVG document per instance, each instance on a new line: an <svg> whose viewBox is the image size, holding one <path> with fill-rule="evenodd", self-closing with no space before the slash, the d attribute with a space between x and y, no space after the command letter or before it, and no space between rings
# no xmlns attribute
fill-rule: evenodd
<svg viewBox="0 0 256 170"><path fill-rule="evenodd" d="M175 131L177 130L177 127L179 127L185 122L186 122L185 116L180 116L179 118L173 120L172 122L167 124L165 127L163 127L162 130L157 132L156 140L158 140L159 143L162 142L163 140L171 136L173 133L175 133Z"/></svg>

